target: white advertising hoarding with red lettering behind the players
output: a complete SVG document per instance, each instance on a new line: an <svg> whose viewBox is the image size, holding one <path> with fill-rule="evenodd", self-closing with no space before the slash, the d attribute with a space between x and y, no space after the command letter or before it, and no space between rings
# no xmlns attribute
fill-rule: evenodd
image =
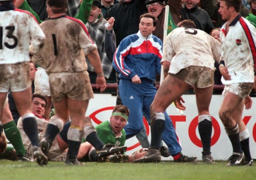
<svg viewBox="0 0 256 180"><path fill-rule="evenodd" d="M198 112L195 95L183 95L182 97L185 100L184 105L186 106L186 110L179 112L174 105L170 105L167 108L167 113L171 116L174 128L180 138L182 153L184 155L197 156L201 160L202 144L197 128ZM249 110L244 109L243 121L247 125L250 133L252 158L256 158L256 98L252 98L252 100L254 101L252 108ZM213 95L210 104L210 113L213 117L211 154L215 160L226 160L232 153L232 145L218 115L222 101L222 95ZM111 116L115 103L116 96L112 96L111 94L95 94L95 98L89 102L86 115L91 117L94 125L97 125ZM147 133L150 142L150 128L147 124L146 129L148 130ZM128 155L141 148L135 136L126 140L125 145L128 147L128 151L126 152ZM171 160L171 158L162 158L162 160Z"/></svg>

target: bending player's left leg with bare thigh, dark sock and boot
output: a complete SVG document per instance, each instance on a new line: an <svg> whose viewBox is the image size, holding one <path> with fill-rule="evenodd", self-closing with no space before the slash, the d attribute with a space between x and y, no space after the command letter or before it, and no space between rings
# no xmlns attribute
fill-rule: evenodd
<svg viewBox="0 0 256 180"><path fill-rule="evenodd" d="M160 85L154 101L150 106L151 114L151 144L148 149L148 153L141 158L134 160L134 163L142 162L159 162L161 160L161 155L159 151L159 144L161 142L161 135L165 128L165 109L174 100L177 100L182 96L188 89L189 84L186 82L167 75L163 83Z"/></svg>

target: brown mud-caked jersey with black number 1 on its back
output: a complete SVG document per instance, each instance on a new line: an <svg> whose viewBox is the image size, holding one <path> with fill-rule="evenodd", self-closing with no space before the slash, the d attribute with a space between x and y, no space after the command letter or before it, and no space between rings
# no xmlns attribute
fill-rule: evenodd
<svg viewBox="0 0 256 180"><path fill-rule="evenodd" d="M67 15L48 18L40 24L45 33L44 47L33 60L46 73L74 73L87 70L85 55L95 49L82 21Z"/></svg>

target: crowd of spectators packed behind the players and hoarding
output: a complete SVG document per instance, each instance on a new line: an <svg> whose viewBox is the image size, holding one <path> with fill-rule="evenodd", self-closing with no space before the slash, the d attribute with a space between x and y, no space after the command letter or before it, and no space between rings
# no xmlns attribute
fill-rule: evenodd
<svg viewBox="0 0 256 180"><path fill-rule="evenodd" d="M47 18L45 0L24 0L21 9L24 8L26 3L37 13L40 20ZM175 29L181 20L185 19L193 20L197 29L201 29L208 34L214 28L220 28L223 24L221 15L218 13L219 0L68 0L68 3L69 16L82 20L86 24L91 38L97 44L103 68L105 67L104 76L107 82L110 83L116 82L115 70L111 66L112 59L109 59L104 51L103 33L106 30L104 24L110 17L115 18L113 32L115 33L116 47L126 36L137 33L139 30L139 16L147 12L158 18L159 22L153 34L163 41L165 5L169 5L169 18L171 18L171 27L169 28L171 30ZM91 10L91 8L82 9L82 16L85 16L85 20L87 19L86 16L94 16L91 22L84 21L81 14L78 17L81 7L92 5L92 3L97 9L97 17L95 16L95 10ZM254 0L242 0L242 3L241 15L256 25L256 2ZM88 62L90 80L95 83L95 72ZM216 68L218 67L216 66ZM215 77L217 76L215 84L221 84L218 69L215 72Z"/></svg>

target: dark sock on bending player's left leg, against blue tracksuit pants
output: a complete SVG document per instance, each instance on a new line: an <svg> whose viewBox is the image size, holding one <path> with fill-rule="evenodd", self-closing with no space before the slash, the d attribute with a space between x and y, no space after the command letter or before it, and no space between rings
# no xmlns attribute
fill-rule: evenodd
<svg viewBox="0 0 256 180"><path fill-rule="evenodd" d="M157 119L152 120L150 125L151 130L151 143L150 147L159 149L162 140L162 133L165 129L165 120Z"/></svg>

